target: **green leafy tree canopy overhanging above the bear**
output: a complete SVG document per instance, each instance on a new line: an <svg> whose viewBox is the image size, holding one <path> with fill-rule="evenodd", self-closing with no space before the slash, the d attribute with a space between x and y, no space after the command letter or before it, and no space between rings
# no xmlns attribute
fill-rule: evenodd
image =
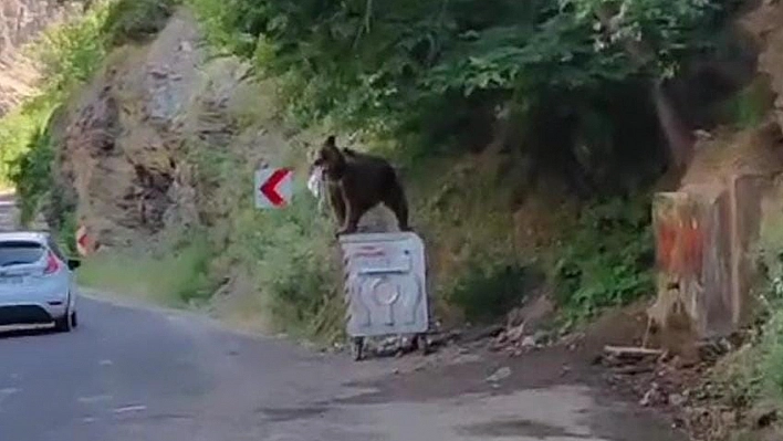
<svg viewBox="0 0 783 441"><path fill-rule="evenodd" d="M626 1L616 35L606 35L597 17L619 11L598 0L190 2L215 44L283 78L299 120L328 116L382 133L426 133L431 119L477 101L491 108L513 98L525 108L639 72L658 76L720 9L710 0ZM630 60L610 43L618 35L641 38L652 60Z"/></svg>

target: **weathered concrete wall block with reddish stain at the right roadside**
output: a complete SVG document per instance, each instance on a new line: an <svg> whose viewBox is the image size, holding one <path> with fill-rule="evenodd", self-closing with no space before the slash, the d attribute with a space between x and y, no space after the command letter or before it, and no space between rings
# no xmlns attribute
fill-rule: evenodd
<svg viewBox="0 0 783 441"><path fill-rule="evenodd" d="M656 195L658 298L650 317L666 327L685 312L696 337L731 334L747 317L754 276L751 249L772 180L739 175L723 185Z"/></svg>

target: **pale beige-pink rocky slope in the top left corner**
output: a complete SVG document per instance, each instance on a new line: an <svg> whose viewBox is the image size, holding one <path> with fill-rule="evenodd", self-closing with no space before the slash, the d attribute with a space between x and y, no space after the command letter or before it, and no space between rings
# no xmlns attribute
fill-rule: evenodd
<svg viewBox="0 0 783 441"><path fill-rule="evenodd" d="M38 78L22 48L76 4L58 0L0 1L0 115L30 95Z"/></svg>

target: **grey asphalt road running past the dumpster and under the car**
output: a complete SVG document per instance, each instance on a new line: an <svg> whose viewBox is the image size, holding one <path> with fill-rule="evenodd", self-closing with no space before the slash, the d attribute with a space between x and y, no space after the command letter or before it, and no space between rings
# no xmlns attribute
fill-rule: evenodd
<svg viewBox="0 0 783 441"><path fill-rule="evenodd" d="M597 390L536 382L532 360L491 385L498 361L473 354L355 364L188 313L79 307L73 333L0 335L1 441L680 440Z"/></svg>

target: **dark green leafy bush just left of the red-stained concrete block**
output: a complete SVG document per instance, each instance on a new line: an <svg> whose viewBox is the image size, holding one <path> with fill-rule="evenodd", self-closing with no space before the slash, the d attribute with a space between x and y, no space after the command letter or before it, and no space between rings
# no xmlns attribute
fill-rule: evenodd
<svg viewBox="0 0 783 441"><path fill-rule="evenodd" d="M649 217L647 198L618 198L583 210L555 272L560 301L575 318L654 293Z"/></svg>

